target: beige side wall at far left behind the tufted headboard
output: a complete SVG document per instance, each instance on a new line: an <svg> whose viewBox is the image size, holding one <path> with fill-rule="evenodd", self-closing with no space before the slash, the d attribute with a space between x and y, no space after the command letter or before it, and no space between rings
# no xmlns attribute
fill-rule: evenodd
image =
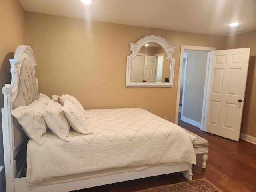
<svg viewBox="0 0 256 192"><path fill-rule="evenodd" d="M0 87L10 83L10 62L18 45L26 44L25 11L18 0L0 1ZM4 107L0 94L0 108ZM0 117L1 120L1 117ZM1 120L2 122L2 120ZM4 165L2 123L0 124L0 165ZM0 192L5 190L4 171L0 173Z"/></svg>

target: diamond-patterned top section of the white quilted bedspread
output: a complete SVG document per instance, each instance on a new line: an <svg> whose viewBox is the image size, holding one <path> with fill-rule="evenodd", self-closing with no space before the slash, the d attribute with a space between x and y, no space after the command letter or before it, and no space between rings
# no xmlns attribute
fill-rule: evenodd
<svg viewBox="0 0 256 192"><path fill-rule="evenodd" d="M93 133L84 140L90 144L102 143L102 137L110 142L121 142L175 135L171 122L139 108L85 110L85 115Z"/></svg>

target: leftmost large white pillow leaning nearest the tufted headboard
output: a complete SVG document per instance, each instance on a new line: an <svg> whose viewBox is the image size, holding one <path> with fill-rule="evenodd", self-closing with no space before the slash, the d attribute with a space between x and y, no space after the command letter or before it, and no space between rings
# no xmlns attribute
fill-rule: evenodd
<svg viewBox="0 0 256 192"><path fill-rule="evenodd" d="M28 106L20 106L11 112L22 126L26 135L40 145L46 139L47 126L43 115L38 111L44 109L47 103L48 98L42 97Z"/></svg>

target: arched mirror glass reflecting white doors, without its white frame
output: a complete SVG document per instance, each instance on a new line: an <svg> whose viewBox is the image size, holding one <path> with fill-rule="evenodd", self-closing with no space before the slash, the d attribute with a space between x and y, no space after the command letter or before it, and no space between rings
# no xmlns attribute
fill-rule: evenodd
<svg viewBox="0 0 256 192"><path fill-rule="evenodd" d="M145 44L131 60L130 83L169 83L170 66L159 44Z"/></svg>

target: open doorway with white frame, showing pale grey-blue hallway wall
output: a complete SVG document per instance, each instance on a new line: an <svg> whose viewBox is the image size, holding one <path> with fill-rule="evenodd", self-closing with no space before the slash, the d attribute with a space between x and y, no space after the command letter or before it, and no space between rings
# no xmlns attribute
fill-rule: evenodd
<svg viewBox="0 0 256 192"><path fill-rule="evenodd" d="M178 124L180 111L183 121L197 126L202 130L208 64L210 51L214 50L215 48L212 47L181 46L176 101L176 124Z"/></svg>

